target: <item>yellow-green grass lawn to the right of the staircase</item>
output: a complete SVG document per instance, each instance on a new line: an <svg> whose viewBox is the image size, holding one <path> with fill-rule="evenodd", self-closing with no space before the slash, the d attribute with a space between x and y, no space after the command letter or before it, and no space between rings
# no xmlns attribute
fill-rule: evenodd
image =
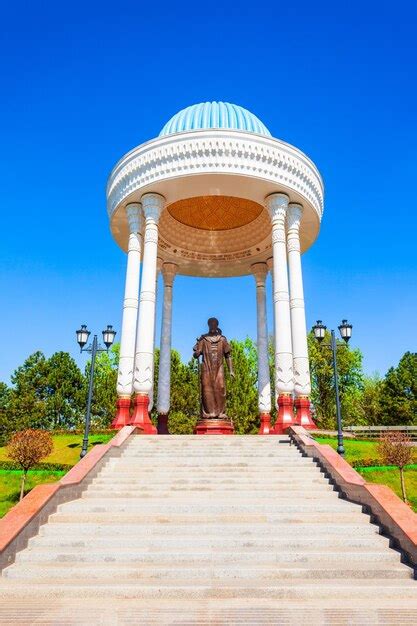
<svg viewBox="0 0 417 626"><path fill-rule="evenodd" d="M329 444L336 450L337 439L334 437L315 437L319 443ZM345 459L348 463L366 459L378 459L378 443L376 441L345 439ZM417 463L417 451L414 451L414 463ZM400 472L395 467L363 467L356 470L370 483L387 485L401 498ZM408 500L414 511L417 512L417 467L409 466L405 469L405 485Z"/></svg>

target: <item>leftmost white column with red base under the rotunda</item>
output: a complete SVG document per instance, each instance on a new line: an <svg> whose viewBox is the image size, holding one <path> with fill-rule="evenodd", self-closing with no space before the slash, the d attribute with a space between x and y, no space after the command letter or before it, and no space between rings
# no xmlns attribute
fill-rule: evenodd
<svg viewBox="0 0 417 626"><path fill-rule="evenodd" d="M122 333L120 339L119 369L117 373L117 409L112 428L123 428L130 421L130 399L133 393L133 368L135 361L136 324L141 256L142 207L139 202L126 206L129 223L129 244L125 295L123 300Z"/></svg>

